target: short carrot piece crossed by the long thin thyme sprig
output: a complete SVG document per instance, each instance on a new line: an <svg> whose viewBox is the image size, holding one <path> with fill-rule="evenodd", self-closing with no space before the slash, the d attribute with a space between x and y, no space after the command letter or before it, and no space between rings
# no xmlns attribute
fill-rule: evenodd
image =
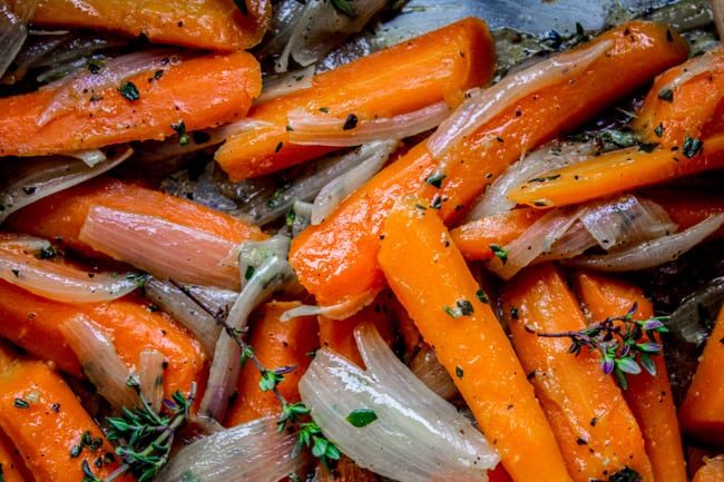
<svg viewBox="0 0 724 482"><path fill-rule="evenodd" d="M319 346L314 316L300 316L288 322L280 319L284 312L295 306L299 303L270 302L262 305L250 321L248 343L254 348L254 356L268 370L295 366L278 385L290 403L300 401L299 380L312 362L310 353ZM226 413L226 426L281 413L280 401L272 392L261 391L260 380L258 370L247 361L239 376L237 396Z"/></svg>

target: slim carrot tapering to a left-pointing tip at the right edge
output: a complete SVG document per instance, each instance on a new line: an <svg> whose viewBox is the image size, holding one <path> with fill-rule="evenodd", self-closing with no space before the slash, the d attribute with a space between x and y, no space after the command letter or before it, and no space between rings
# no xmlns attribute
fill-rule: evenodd
<svg viewBox="0 0 724 482"><path fill-rule="evenodd" d="M508 194L516 203L555 207L724 167L724 134L701 145L616 150L540 175Z"/></svg>

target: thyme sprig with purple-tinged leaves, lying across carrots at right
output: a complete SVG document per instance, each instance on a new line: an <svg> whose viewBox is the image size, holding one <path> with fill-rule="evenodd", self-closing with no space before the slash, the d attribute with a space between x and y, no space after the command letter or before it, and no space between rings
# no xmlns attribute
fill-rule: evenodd
<svg viewBox="0 0 724 482"><path fill-rule="evenodd" d="M626 390L626 375L638 375L642 368L656 375L653 356L661 355L663 348L657 334L668 332L664 325L667 316L634 319L637 309L638 304L634 303L625 315L593 323L579 332L538 333L538 336L570 338L568 353L576 356L583 348L600 352L604 374L613 374L618 385Z"/></svg>

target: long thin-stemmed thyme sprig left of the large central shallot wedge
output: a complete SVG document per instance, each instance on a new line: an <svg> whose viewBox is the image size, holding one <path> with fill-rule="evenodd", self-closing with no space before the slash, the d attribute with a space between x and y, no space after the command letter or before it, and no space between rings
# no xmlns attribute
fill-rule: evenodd
<svg viewBox="0 0 724 482"><path fill-rule="evenodd" d="M311 410L304 405L303 402L290 403L278 390L278 384L284 381L284 375L295 370L296 366L267 368L255 356L254 348L244 340L244 329L235 329L229 326L224 319L224 313L213 313L193 293L189 293L188 289L184 289L180 284L174 281L170 281L170 283L180 288L193 303L199 306L199 308L212 315L226 334L236 342L239 348L242 348L242 364L251 362L260 372L262 375L260 378L260 390L262 392L272 392L282 405L282 413L280 419L276 421L277 432L282 432L288 426L296 426L297 429L296 443L292 450L292 456L297 456L305 447L311 449L312 455L319 459L327 471L331 470L334 463L340 460L342 455L340 450L333 442L324 436L322 429L315 422L307 421Z"/></svg>

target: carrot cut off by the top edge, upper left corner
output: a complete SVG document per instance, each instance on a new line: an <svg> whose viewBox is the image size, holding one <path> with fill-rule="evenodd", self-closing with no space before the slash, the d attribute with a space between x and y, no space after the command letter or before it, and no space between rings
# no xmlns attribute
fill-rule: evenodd
<svg viewBox="0 0 724 482"><path fill-rule="evenodd" d="M10 0L21 7L22 0ZM268 27L272 4L245 1L242 12L233 0L194 2L90 0L38 2L30 21L43 27L106 30L129 37L145 36L151 42L207 50L243 50L256 46Z"/></svg>

